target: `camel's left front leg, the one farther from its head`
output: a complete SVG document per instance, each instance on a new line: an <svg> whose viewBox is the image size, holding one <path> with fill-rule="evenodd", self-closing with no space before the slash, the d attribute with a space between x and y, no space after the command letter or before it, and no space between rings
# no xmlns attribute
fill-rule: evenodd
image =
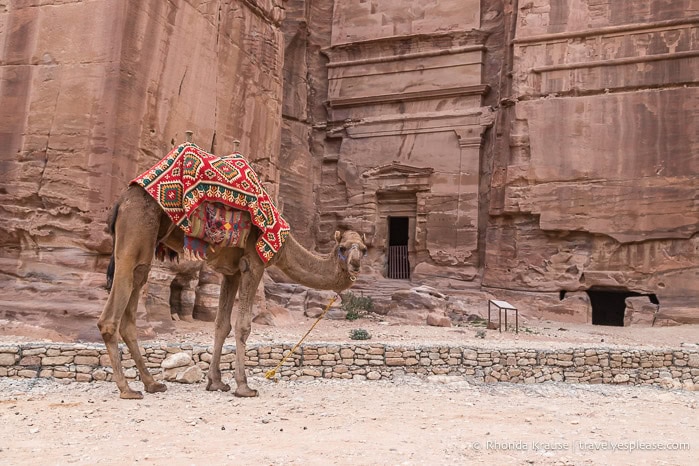
<svg viewBox="0 0 699 466"><path fill-rule="evenodd" d="M206 389L209 391L221 390L227 392L231 386L221 382L221 350L223 342L231 333L231 311L233 302L238 292L240 274L224 275L221 283L221 295L218 299L218 312L216 313L216 334L214 337L214 355L209 365L208 382Z"/></svg>

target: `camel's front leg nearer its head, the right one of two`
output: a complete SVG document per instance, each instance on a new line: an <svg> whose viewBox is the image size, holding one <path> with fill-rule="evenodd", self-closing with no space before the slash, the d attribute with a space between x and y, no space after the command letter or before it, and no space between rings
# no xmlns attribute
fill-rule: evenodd
<svg viewBox="0 0 699 466"><path fill-rule="evenodd" d="M256 253L249 254L240 260L242 272L240 308L235 321L235 382L237 384L235 396L257 396L257 390L248 387L248 379L245 375L245 342L252 326L252 304L255 292L262 280L264 270L262 259Z"/></svg>

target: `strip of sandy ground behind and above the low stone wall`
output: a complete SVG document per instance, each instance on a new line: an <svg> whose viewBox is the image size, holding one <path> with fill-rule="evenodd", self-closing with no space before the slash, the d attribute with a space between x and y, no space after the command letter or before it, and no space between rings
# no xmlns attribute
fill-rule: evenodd
<svg viewBox="0 0 699 466"><path fill-rule="evenodd" d="M253 323L248 343L296 343L315 322L315 319L292 313L293 318L281 326L267 326ZM94 325L94 338L88 341L101 343ZM202 321L174 322L172 333L160 334L151 338L139 336L142 342L166 341L169 343L213 344L214 324ZM624 346L631 348L699 348L699 325L677 327L608 327L599 325L574 324L567 322L539 321L522 319L519 333L514 332L510 319L509 331L485 330L482 324L463 327L430 327L427 325L406 325L398 319L370 314L355 321L321 320L311 332L306 343L336 342L350 343L349 333L362 328L369 332L369 343L395 344L451 344L476 345L500 348L609 348ZM478 335L483 336L479 338ZM0 319L0 343L22 343L38 341L73 341L53 329L28 325L17 321ZM235 339L229 336L226 344L234 345Z"/></svg>

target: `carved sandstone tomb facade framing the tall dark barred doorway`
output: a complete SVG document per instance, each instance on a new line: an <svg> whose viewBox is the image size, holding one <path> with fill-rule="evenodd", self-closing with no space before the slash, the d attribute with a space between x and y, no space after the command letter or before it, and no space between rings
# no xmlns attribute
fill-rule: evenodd
<svg viewBox="0 0 699 466"><path fill-rule="evenodd" d="M477 272L486 37L478 1L335 3L321 222L364 230L383 273L390 217L414 272Z"/></svg>

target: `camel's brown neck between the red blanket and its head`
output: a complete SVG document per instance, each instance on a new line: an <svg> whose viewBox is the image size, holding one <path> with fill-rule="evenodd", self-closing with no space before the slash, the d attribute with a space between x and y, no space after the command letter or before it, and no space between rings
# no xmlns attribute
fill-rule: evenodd
<svg viewBox="0 0 699 466"><path fill-rule="evenodd" d="M314 254L289 235L279 254L274 265L301 285L339 293L353 284L350 275L340 266L336 251L323 256Z"/></svg>

